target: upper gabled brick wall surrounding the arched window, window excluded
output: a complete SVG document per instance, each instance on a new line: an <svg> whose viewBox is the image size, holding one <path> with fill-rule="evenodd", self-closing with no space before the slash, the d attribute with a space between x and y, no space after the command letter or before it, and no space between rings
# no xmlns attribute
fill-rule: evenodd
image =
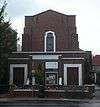
<svg viewBox="0 0 100 107"><path fill-rule="evenodd" d="M56 35L56 51L79 50L75 15L64 15L52 10L26 16L22 50L43 52L46 31Z"/></svg>

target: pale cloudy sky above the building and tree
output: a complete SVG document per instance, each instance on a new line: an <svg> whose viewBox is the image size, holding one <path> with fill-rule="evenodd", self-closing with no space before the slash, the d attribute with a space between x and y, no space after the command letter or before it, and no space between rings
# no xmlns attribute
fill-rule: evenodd
<svg viewBox="0 0 100 107"><path fill-rule="evenodd" d="M4 0L0 0L3 3ZM100 54L100 0L6 0L7 17L21 38L24 17L48 9L66 15L76 15L79 46L85 51ZM21 44L21 39L18 42Z"/></svg>

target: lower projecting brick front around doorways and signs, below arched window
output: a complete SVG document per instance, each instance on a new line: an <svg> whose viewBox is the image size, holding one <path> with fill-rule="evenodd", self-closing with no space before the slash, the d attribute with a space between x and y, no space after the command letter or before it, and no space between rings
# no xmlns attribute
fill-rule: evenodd
<svg viewBox="0 0 100 107"><path fill-rule="evenodd" d="M45 53L45 52L14 52L9 58L10 64L27 64L28 65L28 77L31 74L32 63L44 63L44 72L45 72L45 63L46 62L58 62L58 77L62 77L62 83L64 84L64 64L81 64L82 65L82 83L87 84L91 82L88 78L91 74L91 61L89 60L90 52L85 51L66 51L66 52L55 52L55 53ZM32 59L32 56L35 55L58 55L58 59ZM31 61L32 60L32 61ZM88 62L87 62L88 61ZM89 62L90 61L90 62ZM88 63L88 64L87 64ZM86 67L85 67L86 66ZM58 84L59 80L57 80Z"/></svg>

